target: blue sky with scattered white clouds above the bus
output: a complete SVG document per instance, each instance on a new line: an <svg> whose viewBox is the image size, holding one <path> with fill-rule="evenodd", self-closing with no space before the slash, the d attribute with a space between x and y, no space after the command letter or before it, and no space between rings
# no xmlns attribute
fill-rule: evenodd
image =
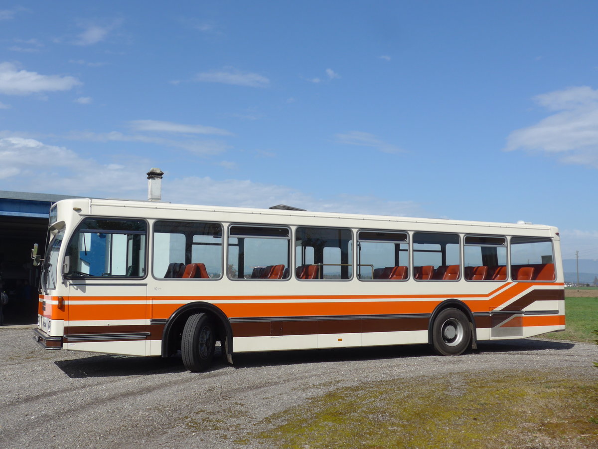
<svg viewBox="0 0 598 449"><path fill-rule="evenodd" d="M57 7L58 6L58 7ZM559 226L598 258L598 3L4 2L0 190Z"/></svg>

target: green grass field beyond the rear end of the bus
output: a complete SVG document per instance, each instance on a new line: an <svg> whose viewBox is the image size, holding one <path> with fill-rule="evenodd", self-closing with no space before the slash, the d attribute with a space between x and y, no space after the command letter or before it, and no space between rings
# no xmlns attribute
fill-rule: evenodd
<svg viewBox="0 0 598 449"><path fill-rule="evenodd" d="M542 338L571 341L594 341L592 334L598 329L598 298L565 298L565 323L563 332L551 332Z"/></svg>

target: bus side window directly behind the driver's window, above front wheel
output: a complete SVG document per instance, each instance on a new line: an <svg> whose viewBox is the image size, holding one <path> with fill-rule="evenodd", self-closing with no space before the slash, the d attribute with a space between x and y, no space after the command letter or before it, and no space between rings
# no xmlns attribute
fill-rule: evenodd
<svg viewBox="0 0 598 449"><path fill-rule="evenodd" d="M155 278L222 277L222 226L211 222L154 223Z"/></svg>

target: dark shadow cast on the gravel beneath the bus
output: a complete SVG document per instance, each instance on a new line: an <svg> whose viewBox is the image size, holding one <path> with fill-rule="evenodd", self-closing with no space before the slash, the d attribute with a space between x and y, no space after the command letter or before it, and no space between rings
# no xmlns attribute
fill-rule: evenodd
<svg viewBox="0 0 598 449"><path fill-rule="evenodd" d="M568 350L574 345L574 343L566 341L537 339L483 341L478 342L477 350L470 350L469 353ZM241 353L234 354L233 368L406 359L434 355L429 345L426 344ZM81 359L60 360L54 362L54 364L70 378L126 377L187 371L182 364L180 354L179 356L169 358L97 355ZM222 359L220 348L217 347L212 368L204 371L203 374L227 367L230 367L230 365Z"/></svg>

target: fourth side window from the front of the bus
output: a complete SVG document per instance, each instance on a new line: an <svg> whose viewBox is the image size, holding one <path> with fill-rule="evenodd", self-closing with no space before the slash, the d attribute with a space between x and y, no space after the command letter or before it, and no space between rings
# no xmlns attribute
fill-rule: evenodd
<svg viewBox="0 0 598 449"><path fill-rule="evenodd" d="M353 236L350 229L297 227L295 248L297 278L302 280L352 278Z"/></svg>

